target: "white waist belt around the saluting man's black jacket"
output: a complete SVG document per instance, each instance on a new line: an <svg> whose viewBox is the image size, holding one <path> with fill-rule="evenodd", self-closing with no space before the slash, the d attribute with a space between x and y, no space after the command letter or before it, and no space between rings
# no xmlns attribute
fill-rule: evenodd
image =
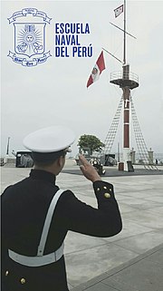
<svg viewBox="0 0 163 291"><path fill-rule="evenodd" d="M11 249L8 250L8 254L10 258L12 258L15 262L21 265L28 266L28 267L41 267L41 266L48 265L48 264L58 261L63 255L63 248L64 248L64 244L62 243L62 246L59 247L55 252L48 255L44 255L42 257L39 257L39 256L26 257L23 255L14 253L14 251Z"/></svg>

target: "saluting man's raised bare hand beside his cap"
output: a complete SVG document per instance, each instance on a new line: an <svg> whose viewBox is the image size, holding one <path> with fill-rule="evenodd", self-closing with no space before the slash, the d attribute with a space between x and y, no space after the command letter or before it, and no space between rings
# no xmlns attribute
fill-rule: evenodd
<svg viewBox="0 0 163 291"><path fill-rule="evenodd" d="M79 155L79 160L82 163L80 168L85 178L90 179L91 182L95 182L96 180L101 180L101 176L98 174L97 170L95 170L94 167L91 166L88 160L86 160L82 155Z"/></svg>

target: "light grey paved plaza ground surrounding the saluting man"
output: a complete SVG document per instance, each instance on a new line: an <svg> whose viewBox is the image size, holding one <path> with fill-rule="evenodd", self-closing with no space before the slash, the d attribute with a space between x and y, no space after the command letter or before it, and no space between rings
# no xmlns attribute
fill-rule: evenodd
<svg viewBox="0 0 163 291"><path fill-rule="evenodd" d="M78 169L74 160L67 160L64 172L57 177L57 184L62 189L72 189L78 199L97 207L91 182L82 175L70 173L71 170ZM69 287L72 291L159 291L162 276L156 270L157 267L160 269L160 262L152 254L163 261L159 246L163 242L163 169L160 167L157 175L151 175L150 172L150 175L133 173L130 176L117 177L111 176L111 168L107 169L110 177L103 176L102 179L114 185L123 229L112 238L93 238L74 232L68 233L64 254ZM1 190L27 177L29 171L30 169L7 165L1 167ZM153 268L151 261L154 262ZM156 283L154 281L149 285L153 288L146 289L141 286L144 268L149 269L153 275L151 277L159 276L158 280L154 279L158 286L153 286ZM129 281L131 277L133 279Z"/></svg>

